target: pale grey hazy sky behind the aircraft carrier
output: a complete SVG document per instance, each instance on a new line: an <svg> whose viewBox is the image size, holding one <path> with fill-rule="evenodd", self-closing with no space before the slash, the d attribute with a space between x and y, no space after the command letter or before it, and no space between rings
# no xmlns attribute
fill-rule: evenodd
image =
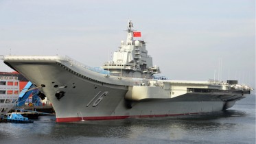
<svg viewBox="0 0 256 144"><path fill-rule="evenodd" d="M91 67L126 39L128 19L171 80L255 88L255 0L0 0L0 55L70 56ZM0 63L0 71L12 71Z"/></svg>

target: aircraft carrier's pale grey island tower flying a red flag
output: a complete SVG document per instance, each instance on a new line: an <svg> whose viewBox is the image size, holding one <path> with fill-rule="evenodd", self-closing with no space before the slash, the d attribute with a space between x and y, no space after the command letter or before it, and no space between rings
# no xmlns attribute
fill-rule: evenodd
<svg viewBox="0 0 256 144"><path fill-rule="evenodd" d="M143 40L134 40L134 34L139 37L140 32L134 32L131 21L128 23L126 43L121 40L121 47L113 54L113 60L103 64L111 75L120 77L152 78L160 73L159 67L153 66L152 57L148 55L146 43Z"/></svg>

